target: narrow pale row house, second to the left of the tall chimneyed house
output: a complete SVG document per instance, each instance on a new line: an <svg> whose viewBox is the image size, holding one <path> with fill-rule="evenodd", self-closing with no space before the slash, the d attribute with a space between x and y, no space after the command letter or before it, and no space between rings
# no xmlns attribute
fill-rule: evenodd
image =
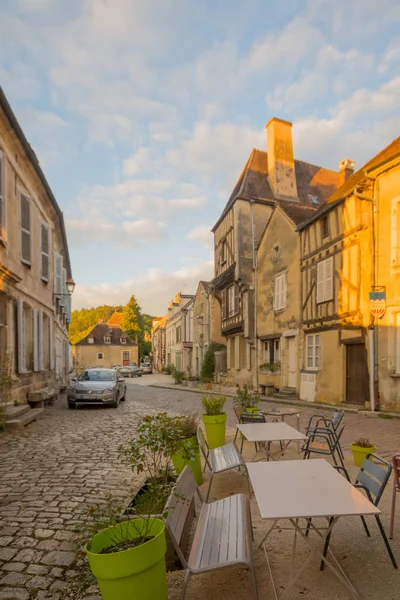
<svg viewBox="0 0 400 600"><path fill-rule="evenodd" d="M190 374L193 350L194 296L179 292L168 306L166 363Z"/></svg>

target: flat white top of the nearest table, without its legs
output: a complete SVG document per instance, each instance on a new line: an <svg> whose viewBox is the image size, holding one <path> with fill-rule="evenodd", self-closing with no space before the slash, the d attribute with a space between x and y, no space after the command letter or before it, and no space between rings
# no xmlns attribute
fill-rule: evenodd
<svg viewBox="0 0 400 600"><path fill-rule="evenodd" d="M379 514L324 459L247 463L263 519Z"/></svg>

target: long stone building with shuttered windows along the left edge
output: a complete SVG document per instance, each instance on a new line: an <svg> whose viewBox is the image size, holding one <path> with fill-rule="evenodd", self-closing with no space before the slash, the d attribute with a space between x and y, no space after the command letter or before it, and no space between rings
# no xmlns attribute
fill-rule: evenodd
<svg viewBox="0 0 400 600"><path fill-rule="evenodd" d="M11 400L67 383L67 282L62 212L0 88L0 371L11 374Z"/></svg>

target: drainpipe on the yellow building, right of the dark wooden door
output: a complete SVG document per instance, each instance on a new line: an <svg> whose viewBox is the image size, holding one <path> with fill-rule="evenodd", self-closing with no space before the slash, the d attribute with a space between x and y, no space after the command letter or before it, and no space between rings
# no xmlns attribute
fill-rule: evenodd
<svg viewBox="0 0 400 600"><path fill-rule="evenodd" d="M375 182L376 177L371 177L365 173L365 176L368 179L371 179ZM371 273L371 287L374 290L376 288L377 282L377 272L378 272L378 244L376 241L376 230L377 230L377 204L375 199L375 189L376 186L373 186L372 198L368 196L364 196L362 194L358 194L355 191L355 197L359 200L364 200L366 202L371 202L372 204L372 273ZM378 327L376 324L376 317L371 315L370 325L368 327L368 341L369 341L369 396L371 402L371 412L375 412L379 409L379 365L378 365Z"/></svg>

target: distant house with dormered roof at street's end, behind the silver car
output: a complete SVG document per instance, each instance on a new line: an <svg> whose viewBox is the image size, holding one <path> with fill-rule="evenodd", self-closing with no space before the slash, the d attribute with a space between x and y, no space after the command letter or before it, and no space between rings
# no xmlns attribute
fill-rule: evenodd
<svg viewBox="0 0 400 600"><path fill-rule="evenodd" d="M115 365L138 364L137 340L131 340L119 322L118 315L114 314L108 323L98 323L75 345L78 372L89 367L110 369Z"/></svg>

